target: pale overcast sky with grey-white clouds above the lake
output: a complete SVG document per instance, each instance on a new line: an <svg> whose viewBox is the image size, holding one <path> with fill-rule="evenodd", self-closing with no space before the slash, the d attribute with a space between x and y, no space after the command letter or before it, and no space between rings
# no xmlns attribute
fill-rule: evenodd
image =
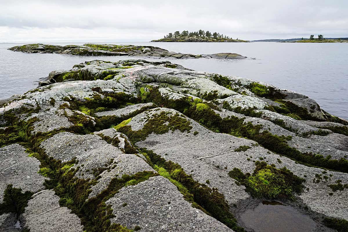
<svg viewBox="0 0 348 232"><path fill-rule="evenodd" d="M246 40L348 37L348 0L0 0L0 42L150 41L199 29Z"/></svg>

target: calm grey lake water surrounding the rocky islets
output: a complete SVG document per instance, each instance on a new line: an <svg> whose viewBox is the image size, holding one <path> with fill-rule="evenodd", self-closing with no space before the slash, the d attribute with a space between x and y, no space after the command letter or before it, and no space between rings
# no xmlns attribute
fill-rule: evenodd
<svg viewBox="0 0 348 232"><path fill-rule="evenodd" d="M197 71L236 75L297 91L315 99L325 111L348 119L348 43L99 43L151 45L192 54L231 52L255 57L255 60L201 58L171 62ZM52 70L69 70L74 64L93 59L117 61L132 58L26 54L7 50L23 44L26 43L0 43L0 99L36 87L37 80L47 77Z"/></svg>

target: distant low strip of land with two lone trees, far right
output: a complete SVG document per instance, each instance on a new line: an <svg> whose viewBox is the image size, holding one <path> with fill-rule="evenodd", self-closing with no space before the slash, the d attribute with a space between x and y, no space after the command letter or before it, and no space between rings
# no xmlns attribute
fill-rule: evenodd
<svg viewBox="0 0 348 232"><path fill-rule="evenodd" d="M318 35L318 38L314 38L314 35L310 35L309 38L293 38L293 39L263 39L252 40L251 42L292 42L292 43L347 43L348 38L324 38L323 35Z"/></svg>

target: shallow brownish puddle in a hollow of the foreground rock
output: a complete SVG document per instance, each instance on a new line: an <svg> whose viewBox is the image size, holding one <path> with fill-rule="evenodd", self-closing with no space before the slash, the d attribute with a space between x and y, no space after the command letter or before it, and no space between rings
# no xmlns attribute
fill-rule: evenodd
<svg viewBox="0 0 348 232"><path fill-rule="evenodd" d="M307 215L277 201L263 201L255 209L246 210L240 219L255 232L303 232L316 225Z"/></svg>

